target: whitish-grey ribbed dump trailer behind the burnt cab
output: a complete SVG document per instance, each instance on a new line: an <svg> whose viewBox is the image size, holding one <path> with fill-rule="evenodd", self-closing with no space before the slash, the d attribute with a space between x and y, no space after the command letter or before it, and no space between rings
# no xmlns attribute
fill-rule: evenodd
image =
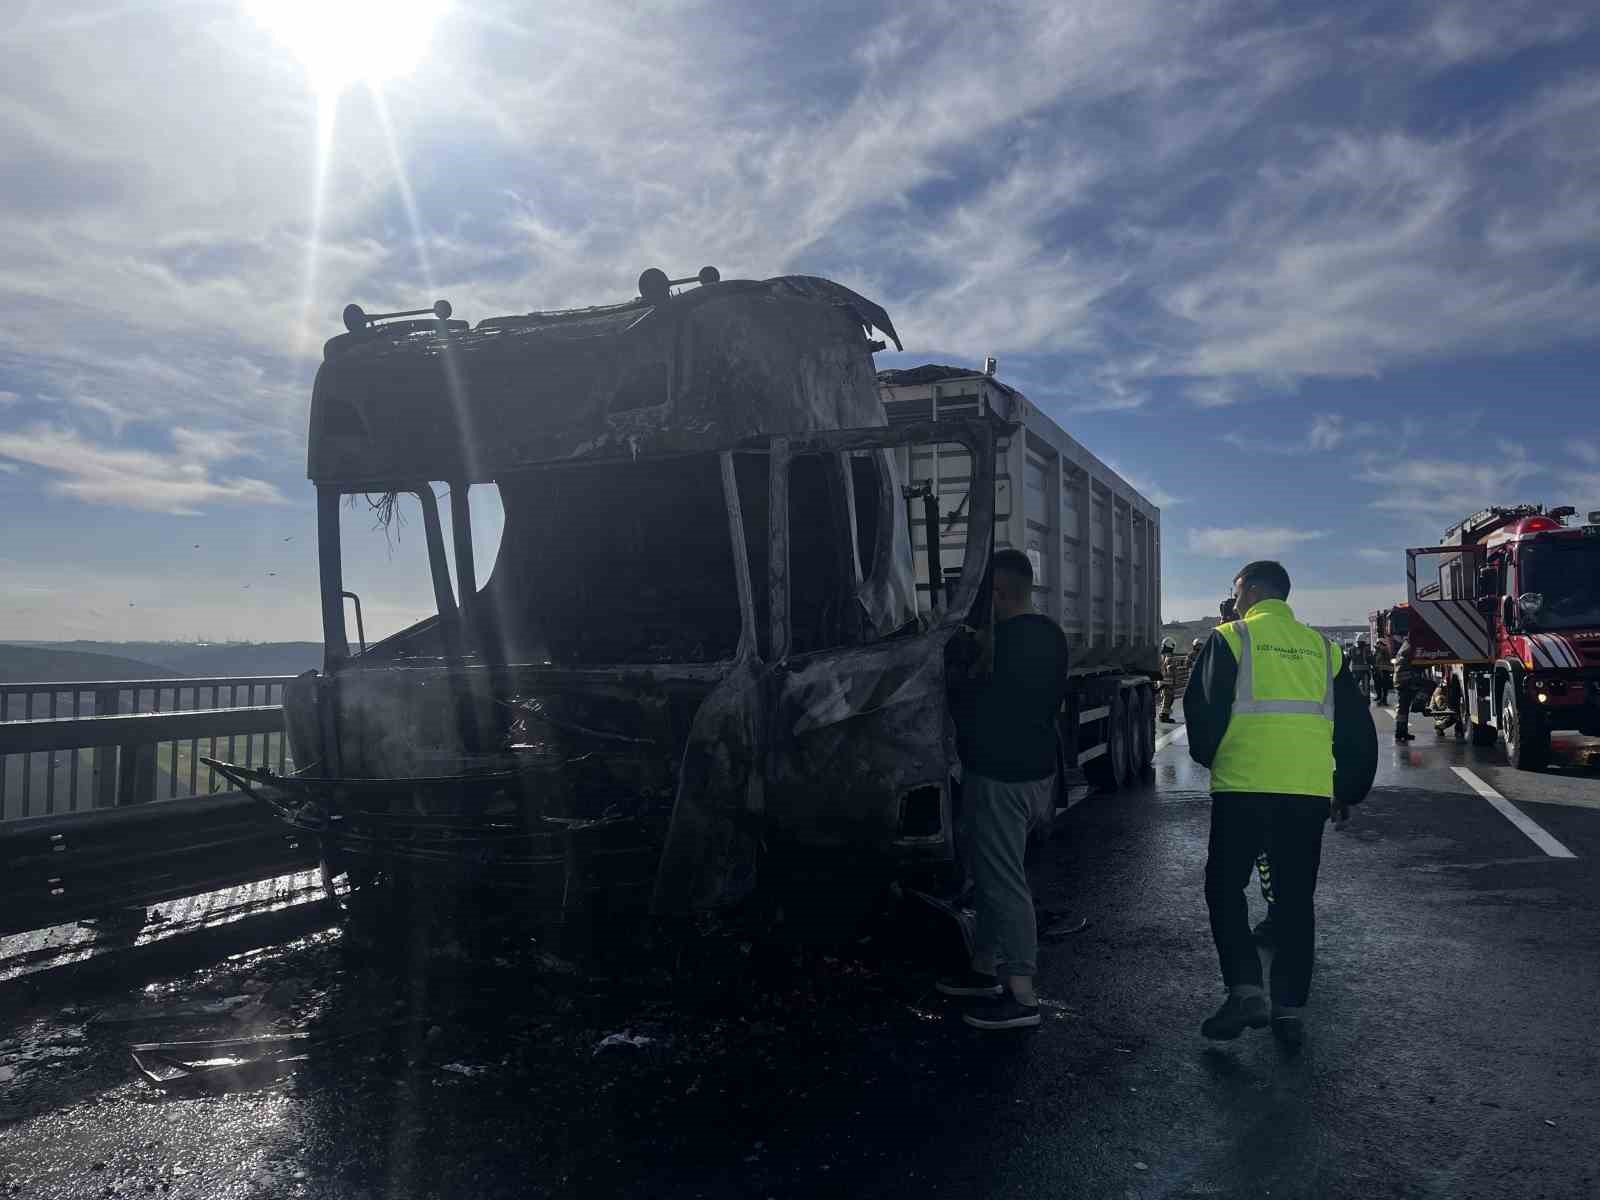
<svg viewBox="0 0 1600 1200"><path fill-rule="evenodd" d="M891 426L998 416L1019 426L995 453L994 547L1034 563L1034 608L1072 645L1072 690L1061 717L1064 766L1115 789L1155 755L1160 678L1162 512L1026 395L992 374L957 366L880 371ZM949 602L971 510L963 446L898 451L920 611ZM928 496L938 555L928 555ZM1072 790L1082 795L1082 790Z"/></svg>

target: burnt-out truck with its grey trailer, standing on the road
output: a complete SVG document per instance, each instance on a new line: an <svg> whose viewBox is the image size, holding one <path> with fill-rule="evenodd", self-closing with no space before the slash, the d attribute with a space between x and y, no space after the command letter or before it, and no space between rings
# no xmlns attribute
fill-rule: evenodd
<svg viewBox="0 0 1600 1200"><path fill-rule="evenodd" d="M989 622L1003 544L1080 654L1058 808L1080 763L1149 765L1155 509L984 374L878 376L874 331L899 339L854 291L646 270L608 307L346 326L312 394L325 664L285 688L294 770L216 766L322 840L352 909L472 886L570 926L806 880L789 918L848 933L954 859L946 646ZM426 547L430 614L373 643L352 504L386 536L408 506Z"/></svg>

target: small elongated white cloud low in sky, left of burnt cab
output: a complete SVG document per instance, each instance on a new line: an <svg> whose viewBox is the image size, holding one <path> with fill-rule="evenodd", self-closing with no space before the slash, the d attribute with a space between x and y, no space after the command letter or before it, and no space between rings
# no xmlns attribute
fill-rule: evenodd
<svg viewBox="0 0 1600 1200"><path fill-rule="evenodd" d="M189 434L189 430L182 430ZM120 450L85 442L58 426L34 426L21 434L0 434L0 456L56 474L50 490L88 504L198 515L211 504L288 504L270 483L258 478L213 478L208 459L194 453L194 442L178 453Z"/></svg>

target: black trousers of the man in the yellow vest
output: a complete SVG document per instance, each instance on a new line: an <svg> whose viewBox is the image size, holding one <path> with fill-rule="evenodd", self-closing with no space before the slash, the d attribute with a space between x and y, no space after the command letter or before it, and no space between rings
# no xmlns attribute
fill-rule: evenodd
<svg viewBox="0 0 1600 1200"><path fill-rule="evenodd" d="M1261 987L1261 954L1250 934L1245 888L1262 850L1272 859L1272 1003L1299 1008L1310 995L1317 918L1312 896L1322 866L1328 800L1270 792L1211 795L1211 843L1205 861L1205 902L1211 938L1229 987Z"/></svg>

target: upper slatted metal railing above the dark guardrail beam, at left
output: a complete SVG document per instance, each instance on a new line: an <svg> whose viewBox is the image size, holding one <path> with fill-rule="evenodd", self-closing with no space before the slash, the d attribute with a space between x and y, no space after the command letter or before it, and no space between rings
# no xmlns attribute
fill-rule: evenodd
<svg viewBox="0 0 1600 1200"><path fill-rule="evenodd" d="M288 771L290 678L0 683L0 821L214 794L202 757Z"/></svg>

